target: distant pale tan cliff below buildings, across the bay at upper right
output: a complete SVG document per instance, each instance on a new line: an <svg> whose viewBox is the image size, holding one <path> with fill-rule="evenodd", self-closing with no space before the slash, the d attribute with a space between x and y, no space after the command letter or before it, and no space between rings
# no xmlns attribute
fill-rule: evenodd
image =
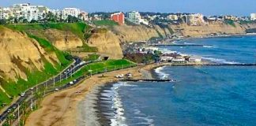
<svg viewBox="0 0 256 126"><path fill-rule="evenodd" d="M183 36L198 36L198 35L210 35L210 34L245 34L246 28L238 23L235 26L224 24L223 22L212 22L209 24L201 24L200 26L189 26L187 24L169 25L176 34Z"/></svg>

